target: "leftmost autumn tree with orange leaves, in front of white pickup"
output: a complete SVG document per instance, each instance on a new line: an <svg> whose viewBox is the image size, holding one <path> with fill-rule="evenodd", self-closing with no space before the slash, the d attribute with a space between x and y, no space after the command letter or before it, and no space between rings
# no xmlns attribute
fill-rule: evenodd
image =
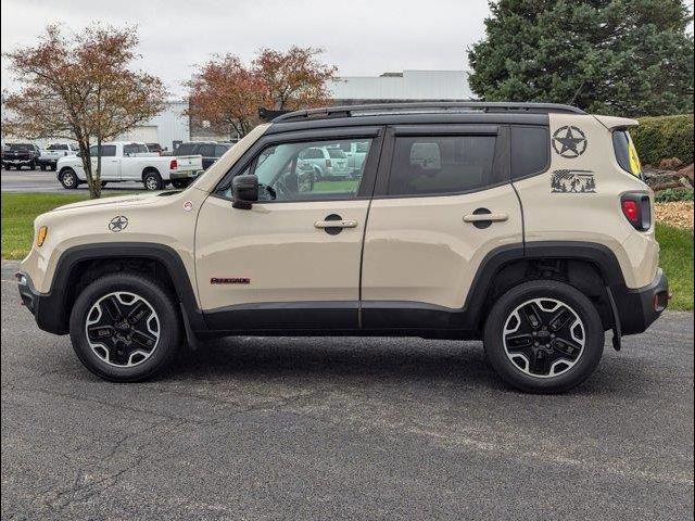
<svg viewBox="0 0 695 521"><path fill-rule="evenodd" d="M27 139L77 141L89 194L101 195L101 143L150 119L164 109L162 81L129 68L138 58L132 28L99 24L74 36L49 25L34 47L4 56L20 89L3 92L3 132Z"/></svg>

